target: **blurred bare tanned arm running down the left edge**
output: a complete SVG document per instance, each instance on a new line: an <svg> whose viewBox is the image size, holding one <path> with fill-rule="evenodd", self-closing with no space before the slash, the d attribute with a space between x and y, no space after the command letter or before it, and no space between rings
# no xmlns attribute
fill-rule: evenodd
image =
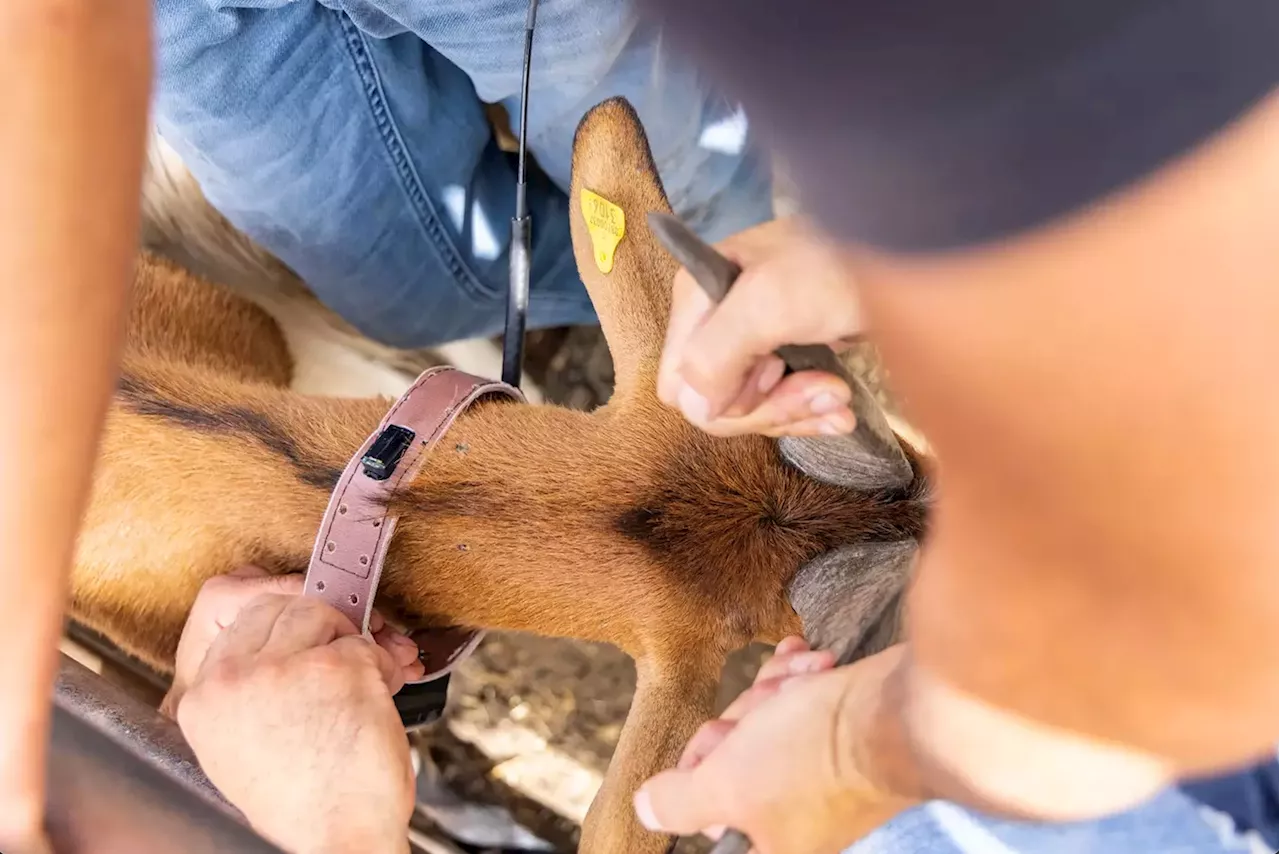
<svg viewBox="0 0 1280 854"><path fill-rule="evenodd" d="M35 845L67 568L136 251L145 0L0 4L0 849Z"/></svg>

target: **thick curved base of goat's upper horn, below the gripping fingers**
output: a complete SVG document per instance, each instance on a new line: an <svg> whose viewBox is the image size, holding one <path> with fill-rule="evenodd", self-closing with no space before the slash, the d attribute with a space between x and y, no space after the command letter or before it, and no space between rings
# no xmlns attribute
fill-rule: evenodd
<svg viewBox="0 0 1280 854"><path fill-rule="evenodd" d="M783 458L814 480L837 487L859 490L905 488L915 478L915 471L884 411L870 389L829 348L822 350L829 353L823 364L797 365L797 369L817 367L842 376L852 392L850 406L858 426L849 435L782 437L778 449ZM788 364L792 361L787 357Z"/></svg>

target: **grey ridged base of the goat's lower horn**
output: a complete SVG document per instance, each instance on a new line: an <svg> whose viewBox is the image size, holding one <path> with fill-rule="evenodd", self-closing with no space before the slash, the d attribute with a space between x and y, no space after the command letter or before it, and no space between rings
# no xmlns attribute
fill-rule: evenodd
<svg viewBox="0 0 1280 854"><path fill-rule="evenodd" d="M815 649L833 650L841 662L892 644L916 551L915 540L859 543L800 567L787 597L805 639Z"/></svg>

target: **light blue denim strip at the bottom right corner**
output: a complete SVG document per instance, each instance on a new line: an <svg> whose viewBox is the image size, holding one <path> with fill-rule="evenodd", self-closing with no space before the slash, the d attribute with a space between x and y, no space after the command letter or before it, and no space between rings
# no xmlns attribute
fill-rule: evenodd
<svg viewBox="0 0 1280 854"><path fill-rule="evenodd" d="M902 813L845 854L1274 854L1280 766L1161 793L1101 821L997 821L933 802Z"/></svg>

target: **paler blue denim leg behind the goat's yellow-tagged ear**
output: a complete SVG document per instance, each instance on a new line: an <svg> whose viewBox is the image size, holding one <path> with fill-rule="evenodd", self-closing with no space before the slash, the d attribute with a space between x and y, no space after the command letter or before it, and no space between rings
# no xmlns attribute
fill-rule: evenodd
<svg viewBox="0 0 1280 854"><path fill-rule="evenodd" d="M330 0L372 31L404 27L518 115L529 0ZM541 0L529 99L530 150L568 188L573 133L595 104L640 114L672 206L709 239L773 215L772 170L748 117L672 54L630 0Z"/></svg>

